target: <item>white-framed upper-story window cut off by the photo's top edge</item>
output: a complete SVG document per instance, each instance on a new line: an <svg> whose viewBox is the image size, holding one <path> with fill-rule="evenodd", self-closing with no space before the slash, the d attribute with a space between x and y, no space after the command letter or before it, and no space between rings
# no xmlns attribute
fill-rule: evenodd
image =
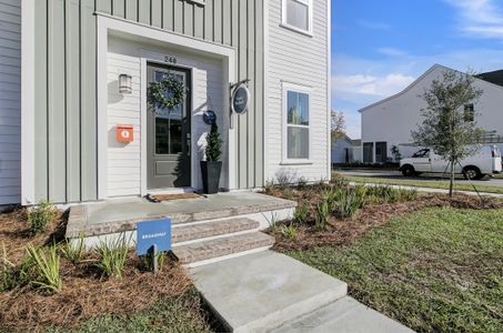
<svg viewBox="0 0 503 333"><path fill-rule="evenodd" d="M312 0L283 0L283 26L312 33Z"/></svg>

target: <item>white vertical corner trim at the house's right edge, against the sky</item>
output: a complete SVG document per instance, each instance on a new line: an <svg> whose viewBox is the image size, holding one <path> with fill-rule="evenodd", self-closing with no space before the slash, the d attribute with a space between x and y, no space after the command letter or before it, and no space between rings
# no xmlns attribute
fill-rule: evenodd
<svg viewBox="0 0 503 333"><path fill-rule="evenodd" d="M332 4L326 0L326 176L332 179Z"/></svg>

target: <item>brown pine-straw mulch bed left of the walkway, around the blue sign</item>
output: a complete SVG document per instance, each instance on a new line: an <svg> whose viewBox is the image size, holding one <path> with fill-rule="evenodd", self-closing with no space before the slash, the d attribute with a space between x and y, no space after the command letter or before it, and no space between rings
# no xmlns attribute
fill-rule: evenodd
<svg viewBox="0 0 503 333"><path fill-rule="evenodd" d="M64 215L60 215L46 233L31 238L26 216L24 209L0 214L0 246L3 243L9 260L14 263L21 262L28 243L50 244L61 240L60 231L64 230ZM97 271L94 259L90 253L74 265L61 258L59 293L48 295L31 286L0 292L0 331L71 327L100 314L141 311L161 297L180 296L192 285L184 269L172 261L154 275L142 271L140 260L131 253L122 279L107 280Z"/></svg>

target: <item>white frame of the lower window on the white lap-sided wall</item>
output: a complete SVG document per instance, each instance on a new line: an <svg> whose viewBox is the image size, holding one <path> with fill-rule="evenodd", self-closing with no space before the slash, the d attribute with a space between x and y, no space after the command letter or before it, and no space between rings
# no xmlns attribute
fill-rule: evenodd
<svg viewBox="0 0 503 333"><path fill-rule="evenodd" d="M281 107L281 113L282 113L282 141L283 141L283 152L282 152L282 165L295 165L295 164L312 164L312 88L306 87L306 85L301 85L296 83L291 83L291 82L283 82L282 84L282 107ZM288 123L288 93L290 92L296 92L296 93L304 93L308 95L308 108L309 108L309 125L298 125L298 124L289 124ZM294 127L294 128L303 128L308 129L308 138L309 138L309 144L308 144L308 158L306 159L289 159L288 157L288 148L289 148L289 139L288 139L288 129L289 127Z"/></svg>

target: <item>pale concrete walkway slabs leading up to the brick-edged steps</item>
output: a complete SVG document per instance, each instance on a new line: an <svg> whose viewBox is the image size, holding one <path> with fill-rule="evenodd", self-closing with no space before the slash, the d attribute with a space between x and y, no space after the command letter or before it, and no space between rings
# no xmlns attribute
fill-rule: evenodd
<svg viewBox="0 0 503 333"><path fill-rule="evenodd" d="M276 252L230 259L190 273L232 332L411 332L348 297L344 282Z"/></svg>

